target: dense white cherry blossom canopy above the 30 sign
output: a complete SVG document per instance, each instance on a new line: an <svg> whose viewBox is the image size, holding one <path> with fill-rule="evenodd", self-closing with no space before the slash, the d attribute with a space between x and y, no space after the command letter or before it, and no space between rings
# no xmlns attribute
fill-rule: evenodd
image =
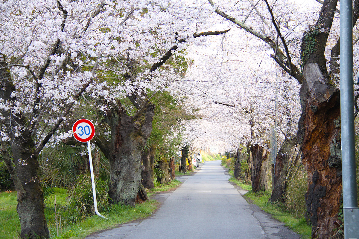
<svg viewBox="0 0 359 239"><path fill-rule="evenodd" d="M148 70L179 39L194 41L192 34L212 11L202 6L204 1L1 1L0 53L16 91L12 100L0 99L0 110L28 116L36 143L63 120L53 143L70 137L63 128L74 120L66 117L72 104L74 112L88 97L101 99L96 107L106 111L106 101L163 90L176 81L171 67ZM145 70L123 81L132 60ZM84 96L76 96L87 83ZM15 137L24 131L11 130ZM9 140L6 132L0 132L2 140Z"/></svg>

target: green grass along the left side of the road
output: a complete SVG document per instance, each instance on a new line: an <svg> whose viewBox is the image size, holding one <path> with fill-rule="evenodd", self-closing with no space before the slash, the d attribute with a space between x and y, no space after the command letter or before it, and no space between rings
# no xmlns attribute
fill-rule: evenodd
<svg viewBox="0 0 359 239"><path fill-rule="evenodd" d="M155 188L148 191L149 196L156 192L163 192L176 188L180 185L180 181L173 180L164 185L155 184ZM56 211L60 215L57 217L59 225L59 236L57 236L56 220L55 220L55 195L56 195ZM106 216L102 219L97 215L90 216L77 222L68 221L68 216L64 214L68 203L67 190L62 188L54 188L54 194L45 200L45 216L47 226L50 231L51 239L82 239L85 236L98 230L107 228L115 228L118 224L128 221L145 218L157 209L158 202L149 200L135 207L123 205L111 205L106 211L100 213ZM19 216L16 212L16 192L5 193L0 192L0 221L6 222L1 224L0 239L17 239L20 234Z"/></svg>

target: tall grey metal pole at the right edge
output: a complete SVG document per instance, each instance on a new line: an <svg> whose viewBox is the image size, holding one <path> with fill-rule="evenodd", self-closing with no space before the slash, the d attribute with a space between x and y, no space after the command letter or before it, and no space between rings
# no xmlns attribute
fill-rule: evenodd
<svg viewBox="0 0 359 239"><path fill-rule="evenodd" d="M353 3L340 1L340 118L345 239L359 238L359 208L356 192L354 90L353 90Z"/></svg>

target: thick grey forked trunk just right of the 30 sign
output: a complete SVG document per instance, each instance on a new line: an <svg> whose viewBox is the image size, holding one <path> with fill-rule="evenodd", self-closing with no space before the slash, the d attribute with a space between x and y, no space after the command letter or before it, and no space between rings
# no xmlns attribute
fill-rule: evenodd
<svg viewBox="0 0 359 239"><path fill-rule="evenodd" d="M120 101L117 104L107 113L112 135L108 195L115 203L134 206L141 182L141 147L152 131L154 105L146 102L135 116L128 116Z"/></svg>

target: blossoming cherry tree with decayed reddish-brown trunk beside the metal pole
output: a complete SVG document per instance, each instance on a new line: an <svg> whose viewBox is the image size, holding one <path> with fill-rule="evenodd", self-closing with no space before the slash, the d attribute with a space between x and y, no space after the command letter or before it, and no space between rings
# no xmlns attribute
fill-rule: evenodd
<svg viewBox="0 0 359 239"><path fill-rule="evenodd" d="M274 61L300 84L298 141L308 172L307 218L312 237L332 236L342 188L337 1L325 0L321 8L313 4L315 8L308 10L288 1L209 0L209 4L216 14L265 43ZM353 26L357 5L354 1Z"/></svg>

